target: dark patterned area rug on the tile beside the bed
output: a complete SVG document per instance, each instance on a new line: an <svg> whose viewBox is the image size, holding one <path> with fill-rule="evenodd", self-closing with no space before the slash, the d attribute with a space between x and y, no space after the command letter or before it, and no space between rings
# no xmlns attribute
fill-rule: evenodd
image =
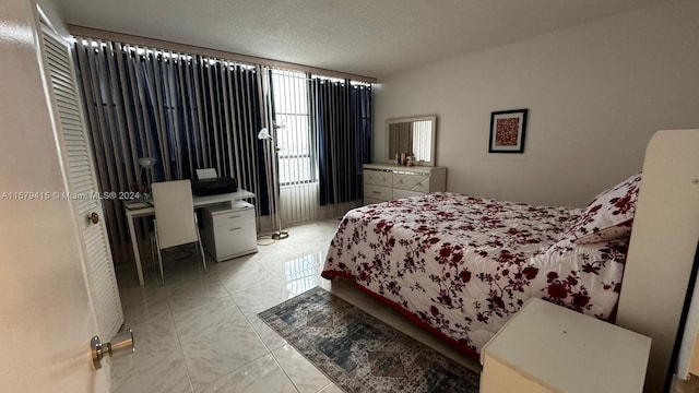
<svg viewBox="0 0 699 393"><path fill-rule="evenodd" d="M478 392L477 372L320 287L259 317L345 392Z"/></svg>

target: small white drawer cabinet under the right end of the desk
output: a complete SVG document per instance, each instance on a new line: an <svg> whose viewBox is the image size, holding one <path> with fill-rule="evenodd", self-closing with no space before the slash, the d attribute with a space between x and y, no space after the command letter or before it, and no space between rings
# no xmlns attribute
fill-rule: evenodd
<svg viewBox="0 0 699 393"><path fill-rule="evenodd" d="M234 201L202 209L203 240L216 262L258 252L254 206Z"/></svg>

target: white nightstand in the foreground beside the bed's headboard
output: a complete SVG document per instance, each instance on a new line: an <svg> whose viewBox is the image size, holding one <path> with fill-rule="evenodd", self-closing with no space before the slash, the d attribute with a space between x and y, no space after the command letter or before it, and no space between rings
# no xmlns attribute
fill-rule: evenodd
<svg viewBox="0 0 699 393"><path fill-rule="evenodd" d="M642 392L651 338L538 298L483 347L481 392Z"/></svg>

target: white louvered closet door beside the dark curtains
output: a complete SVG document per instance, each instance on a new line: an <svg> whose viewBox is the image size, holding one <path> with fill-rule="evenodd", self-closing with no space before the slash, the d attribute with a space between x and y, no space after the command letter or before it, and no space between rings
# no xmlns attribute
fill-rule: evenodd
<svg viewBox="0 0 699 393"><path fill-rule="evenodd" d="M71 193L78 196L71 198L74 211L78 222L83 223L81 229L86 255L87 286L97 314L99 336L106 341L114 336L123 323L123 313L102 201L97 198L97 182L81 102L75 88L75 73L68 43L52 34L48 27L43 26L42 29L56 128L63 141L61 151L63 160L68 164ZM93 214L97 214L96 224L90 219Z"/></svg>

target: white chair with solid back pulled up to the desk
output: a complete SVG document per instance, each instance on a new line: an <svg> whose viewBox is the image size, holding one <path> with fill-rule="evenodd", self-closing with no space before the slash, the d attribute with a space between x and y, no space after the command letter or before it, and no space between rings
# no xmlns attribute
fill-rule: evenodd
<svg viewBox="0 0 699 393"><path fill-rule="evenodd" d="M151 255L157 249L157 262L161 269L161 282L165 285L163 274L163 255L161 250L190 242L199 245L201 262L206 271L206 258L199 236L197 214L192 201L192 189L189 180L163 181L151 184L153 205L155 207L154 233L151 234ZM155 247L153 247L155 243Z"/></svg>

